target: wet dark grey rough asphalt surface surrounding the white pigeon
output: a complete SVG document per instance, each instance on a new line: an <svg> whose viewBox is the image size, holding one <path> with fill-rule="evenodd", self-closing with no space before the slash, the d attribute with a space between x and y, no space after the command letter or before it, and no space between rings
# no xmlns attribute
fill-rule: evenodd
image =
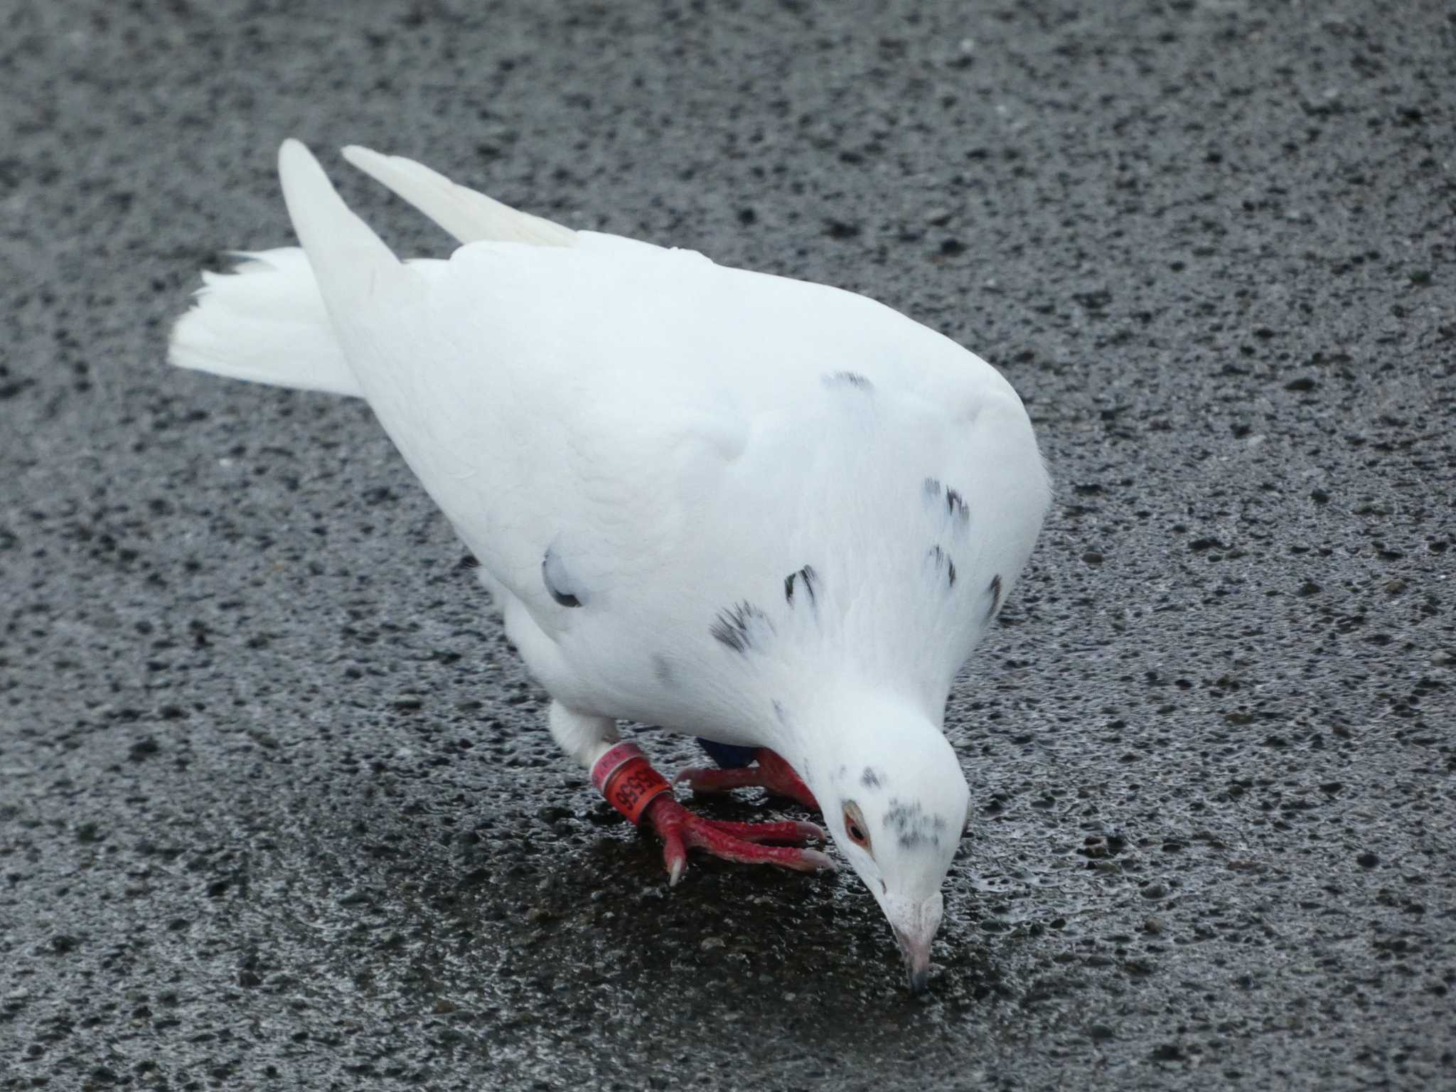
<svg viewBox="0 0 1456 1092"><path fill-rule="evenodd" d="M0 1L0 1089L1456 1086L1456 15L888 7ZM667 893L363 405L166 367L288 134L1013 380L927 997L852 877Z"/></svg>

